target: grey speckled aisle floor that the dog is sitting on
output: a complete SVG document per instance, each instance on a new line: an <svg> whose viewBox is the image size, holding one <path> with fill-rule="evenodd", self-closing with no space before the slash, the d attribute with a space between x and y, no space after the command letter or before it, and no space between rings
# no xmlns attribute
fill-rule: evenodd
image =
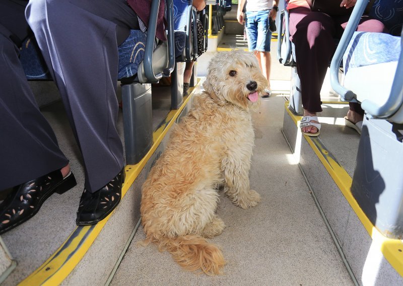
<svg viewBox="0 0 403 286"><path fill-rule="evenodd" d="M281 127L271 118L270 110L284 110L282 106L280 96L263 100L254 115L262 122L264 113L274 125L259 123L256 128L250 182L262 201L243 210L220 193L217 212L227 227L209 241L222 247L225 275L185 272L169 253L154 245L137 246L145 238L139 228L111 285L352 284L298 165L289 160Z"/></svg>

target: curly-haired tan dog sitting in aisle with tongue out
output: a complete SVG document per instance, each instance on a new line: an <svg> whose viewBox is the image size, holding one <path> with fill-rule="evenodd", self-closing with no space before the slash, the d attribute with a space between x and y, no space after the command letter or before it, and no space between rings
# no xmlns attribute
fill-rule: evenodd
<svg viewBox="0 0 403 286"><path fill-rule="evenodd" d="M215 211L219 185L242 208L260 195L249 187L254 132L250 109L267 86L248 52L221 52L210 64L193 108L172 131L162 157L143 185L141 214L146 243L168 250L186 270L219 274L221 250L205 238L223 232Z"/></svg>

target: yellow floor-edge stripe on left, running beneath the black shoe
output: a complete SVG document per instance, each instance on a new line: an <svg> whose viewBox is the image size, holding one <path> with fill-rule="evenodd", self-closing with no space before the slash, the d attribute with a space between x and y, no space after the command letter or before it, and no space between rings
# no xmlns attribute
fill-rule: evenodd
<svg viewBox="0 0 403 286"><path fill-rule="evenodd" d="M198 82L199 83L199 82ZM147 161L153 155L160 145L162 139L174 124L183 108L193 96L196 89L191 88L189 96L183 98L182 106L177 110L171 110L164 122L153 133L154 144L147 155L136 165L127 165L125 182L122 186L122 198L127 193L129 187L139 176ZM31 275L25 278L19 285L58 285L60 284L77 266L84 257L92 243L95 241L113 211L108 217L94 226L76 227L69 238L50 256L45 263L36 269Z"/></svg>

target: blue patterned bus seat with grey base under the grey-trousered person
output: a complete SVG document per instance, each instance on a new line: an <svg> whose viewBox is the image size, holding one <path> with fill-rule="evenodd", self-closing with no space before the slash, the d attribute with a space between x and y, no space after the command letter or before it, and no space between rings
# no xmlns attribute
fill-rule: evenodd
<svg viewBox="0 0 403 286"><path fill-rule="evenodd" d="M163 0L164 1L164 0ZM137 164L153 145L151 84L169 76L175 64L173 4L166 0L167 41L156 45L160 2L153 1L147 35L131 30L118 47L118 79L122 86L126 164ZM28 80L52 80L34 37L23 42L20 61Z"/></svg>

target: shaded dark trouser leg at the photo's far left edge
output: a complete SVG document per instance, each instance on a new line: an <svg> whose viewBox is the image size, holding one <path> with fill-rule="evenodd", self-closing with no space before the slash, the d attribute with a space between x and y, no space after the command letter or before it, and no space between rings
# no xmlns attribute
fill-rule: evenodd
<svg viewBox="0 0 403 286"><path fill-rule="evenodd" d="M28 35L24 2L0 2L0 191L68 165L18 58Z"/></svg>

